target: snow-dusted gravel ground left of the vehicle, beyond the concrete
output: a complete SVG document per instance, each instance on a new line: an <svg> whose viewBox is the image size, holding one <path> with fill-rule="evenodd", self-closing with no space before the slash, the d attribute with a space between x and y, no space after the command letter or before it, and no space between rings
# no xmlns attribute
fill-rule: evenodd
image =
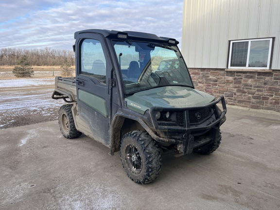
<svg viewBox="0 0 280 210"><path fill-rule="evenodd" d="M54 78L0 79L0 129L57 120Z"/></svg>

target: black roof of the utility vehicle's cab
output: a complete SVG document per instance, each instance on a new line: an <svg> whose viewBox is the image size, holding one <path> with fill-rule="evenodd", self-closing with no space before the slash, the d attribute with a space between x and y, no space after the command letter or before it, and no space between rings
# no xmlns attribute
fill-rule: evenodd
<svg viewBox="0 0 280 210"><path fill-rule="evenodd" d="M116 36L117 34L127 34L128 37L131 38L145 38L145 39L153 39L157 41L168 41L169 39L174 39L174 38L169 38L169 37L164 37L164 36L157 36L155 34L149 34L149 33L144 33L144 32L135 32L135 31L114 31L114 30L103 30L103 29L87 29L83 31L77 31L74 34L74 38L76 39L79 34L84 34L84 33L95 33L95 34L101 34L104 35L105 37L107 36ZM179 42L175 40L175 43L178 44Z"/></svg>

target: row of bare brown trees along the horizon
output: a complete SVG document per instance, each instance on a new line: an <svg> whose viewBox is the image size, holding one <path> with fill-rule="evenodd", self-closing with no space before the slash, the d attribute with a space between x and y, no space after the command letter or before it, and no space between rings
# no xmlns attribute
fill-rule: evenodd
<svg viewBox="0 0 280 210"><path fill-rule="evenodd" d="M0 49L0 66L15 66L22 57L32 66L61 66L68 63L75 65L75 53L67 50L53 50L48 47L45 49Z"/></svg>

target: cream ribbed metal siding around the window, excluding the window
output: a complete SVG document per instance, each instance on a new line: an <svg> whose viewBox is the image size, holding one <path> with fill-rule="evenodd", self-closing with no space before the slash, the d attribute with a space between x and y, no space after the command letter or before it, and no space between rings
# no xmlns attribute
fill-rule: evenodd
<svg viewBox="0 0 280 210"><path fill-rule="evenodd" d="M275 37L280 70L280 0L184 0L182 53L189 68L226 68L228 40Z"/></svg>

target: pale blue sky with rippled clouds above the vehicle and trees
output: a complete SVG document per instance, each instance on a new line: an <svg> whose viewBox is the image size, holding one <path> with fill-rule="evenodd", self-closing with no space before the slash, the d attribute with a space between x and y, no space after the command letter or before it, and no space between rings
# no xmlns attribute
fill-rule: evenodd
<svg viewBox="0 0 280 210"><path fill-rule="evenodd" d="M0 0L0 48L71 50L84 29L141 31L181 42L183 0Z"/></svg>

